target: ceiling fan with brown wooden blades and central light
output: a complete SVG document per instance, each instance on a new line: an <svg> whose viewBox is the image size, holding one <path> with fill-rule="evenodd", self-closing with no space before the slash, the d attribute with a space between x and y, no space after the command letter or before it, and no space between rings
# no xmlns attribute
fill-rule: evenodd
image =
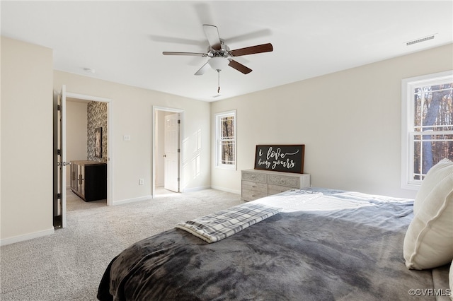
<svg viewBox="0 0 453 301"><path fill-rule="evenodd" d="M210 59L195 72L196 76L204 74L210 67L220 73L222 69L226 66L230 66L237 71L248 74L252 69L244 66L243 64L235 61L234 57L241 57L248 54L257 54L262 52L271 52L273 51L273 46L270 43L263 45L256 45L251 47L245 47L240 49L230 50L227 45L224 44L224 41L220 39L219 30L217 26L203 24L203 30L207 37L207 42L209 42L209 47L207 47L207 53L199 52L162 52L164 55L191 55L197 57L209 57ZM219 93L220 88L217 90Z"/></svg>

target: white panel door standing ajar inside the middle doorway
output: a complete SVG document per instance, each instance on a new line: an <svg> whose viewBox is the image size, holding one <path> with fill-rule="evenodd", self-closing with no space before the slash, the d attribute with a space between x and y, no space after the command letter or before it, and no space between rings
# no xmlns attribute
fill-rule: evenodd
<svg viewBox="0 0 453 301"><path fill-rule="evenodd" d="M164 188L179 192L179 114L165 117L164 129Z"/></svg>

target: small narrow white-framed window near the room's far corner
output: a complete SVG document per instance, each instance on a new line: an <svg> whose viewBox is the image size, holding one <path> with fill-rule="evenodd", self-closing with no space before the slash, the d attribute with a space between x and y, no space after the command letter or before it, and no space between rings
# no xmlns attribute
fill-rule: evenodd
<svg viewBox="0 0 453 301"><path fill-rule="evenodd" d="M215 115L217 167L236 169L236 111Z"/></svg>

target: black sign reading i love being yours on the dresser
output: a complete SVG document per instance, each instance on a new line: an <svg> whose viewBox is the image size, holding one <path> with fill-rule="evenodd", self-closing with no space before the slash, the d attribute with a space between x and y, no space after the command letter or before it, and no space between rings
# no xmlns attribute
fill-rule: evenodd
<svg viewBox="0 0 453 301"><path fill-rule="evenodd" d="M304 173L304 144L258 145L255 169Z"/></svg>

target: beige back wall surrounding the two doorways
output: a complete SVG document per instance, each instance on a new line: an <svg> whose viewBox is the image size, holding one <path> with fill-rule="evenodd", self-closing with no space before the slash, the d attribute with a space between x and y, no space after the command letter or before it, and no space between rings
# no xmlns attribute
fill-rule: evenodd
<svg viewBox="0 0 453 301"><path fill-rule="evenodd" d="M113 203L147 199L152 185L152 113L153 106L184 111L183 183L184 191L210 187L210 103L152 90L100 81L87 76L54 71L54 89L66 85L67 92L110 98L112 118ZM193 151L193 134L202 135L202 148ZM130 141L123 136L130 135ZM109 141L110 143L110 141ZM195 157L200 155L201 172L195 172ZM144 185L139 185L139 179Z"/></svg>

